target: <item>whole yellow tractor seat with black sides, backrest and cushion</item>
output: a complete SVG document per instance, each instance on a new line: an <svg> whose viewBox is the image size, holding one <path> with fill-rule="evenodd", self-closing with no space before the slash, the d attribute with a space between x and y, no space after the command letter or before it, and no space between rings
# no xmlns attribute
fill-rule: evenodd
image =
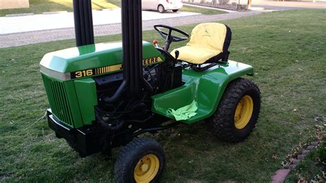
<svg viewBox="0 0 326 183"><path fill-rule="evenodd" d="M184 47L171 52L179 52L178 60L187 63L203 64L228 61L228 47L231 41L231 30L222 23L200 23L191 32L191 39Z"/></svg>

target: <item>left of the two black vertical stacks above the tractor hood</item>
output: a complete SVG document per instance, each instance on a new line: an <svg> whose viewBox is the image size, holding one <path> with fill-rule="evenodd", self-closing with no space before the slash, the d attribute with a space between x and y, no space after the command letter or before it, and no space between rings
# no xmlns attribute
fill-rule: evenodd
<svg viewBox="0 0 326 183"><path fill-rule="evenodd" d="M76 45L94 44L91 0L73 0Z"/></svg>

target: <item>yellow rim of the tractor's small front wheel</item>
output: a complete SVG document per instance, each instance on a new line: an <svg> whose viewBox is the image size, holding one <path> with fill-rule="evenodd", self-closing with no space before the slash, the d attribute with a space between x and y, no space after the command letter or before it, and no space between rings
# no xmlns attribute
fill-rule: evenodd
<svg viewBox="0 0 326 183"><path fill-rule="evenodd" d="M133 172L135 182L151 182L157 175L160 167L160 160L156 155L148 154L139 160Z"/></svg>

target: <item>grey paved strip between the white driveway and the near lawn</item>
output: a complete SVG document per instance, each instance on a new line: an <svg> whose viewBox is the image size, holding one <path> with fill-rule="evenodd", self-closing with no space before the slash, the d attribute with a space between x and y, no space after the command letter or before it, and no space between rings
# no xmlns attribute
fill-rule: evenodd
<svg viewBox="0 0 326 183"><path fill-rule="evenodd" d="M227 14L214 14L214 15L193 15L188 17L176 17L169 19L155 19L149 21L142 21L143 30L153 30L155 24L165 24L170 26L180 26L191 23L202 23L210 21L221 21L227 19L238 19L241 17L253 16L261 14L261 12L248 11L248 12L232 12ZM108 25L94 25L95 36L105 36L109 34L120 34L121 23L114 23ZM49 41L58 41L65 39L74 39L74 28L62 28L55 30L41 30L34 32L22 32L15 34L0 35L0 47L12 47L19 45L28 45L32 43L43 43Z"/></svg>

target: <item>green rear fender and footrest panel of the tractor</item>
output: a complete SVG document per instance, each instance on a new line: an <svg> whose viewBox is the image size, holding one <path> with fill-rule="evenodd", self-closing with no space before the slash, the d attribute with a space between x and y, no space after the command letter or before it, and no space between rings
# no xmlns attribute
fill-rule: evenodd
<svg viewBox="0 0 326 183"><path fill-rule="evenodd" d="M231 80L246 74L253 75L253 72L251 65L235 61L229 61L227 65L216 65L203 72L195 72L188 67L182 70L184 82L182 87L152 96L152 111L174 119L173 116L166 114L169 108L178 109L195 100L198 107L197 115L182 122L191 124L204 120L214 114Z"/></svg>

